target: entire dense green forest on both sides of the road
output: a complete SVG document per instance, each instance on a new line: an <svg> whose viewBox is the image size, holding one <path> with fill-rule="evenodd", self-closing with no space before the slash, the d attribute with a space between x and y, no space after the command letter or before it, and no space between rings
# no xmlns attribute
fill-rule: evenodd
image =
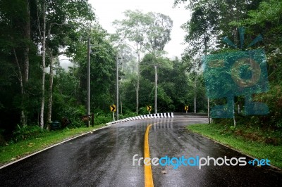
<svg viewBox="0 0 282 187"><path fill-rule="evenodd" d="M82 125L88 38L90 112L96 120L111 120L116 59L121 117L145 114L147 105L154 106L154 66L157 112L184 112L185 105L194 112L195 96L196 111L207 112L202 56L234 51L222 38L239 44L239 27L245 27L245 48L262 34L263 41L250 49L266 51L270 89L254 97L269 106L269 115L238 120L281 128L282 1L176 0L174 6L192 13L182 26L188 47L181 59L166 58L164 46L171 40L173 21L162 13L125 11L125 19L113 22L116 34L109 34L87 0L0 0L0 134L11 135L24 125L46 129L62 117L73 126ZM68 58L71 67L63 68L59 57ZM235 101L242 104L240 97Z"/></svg>

